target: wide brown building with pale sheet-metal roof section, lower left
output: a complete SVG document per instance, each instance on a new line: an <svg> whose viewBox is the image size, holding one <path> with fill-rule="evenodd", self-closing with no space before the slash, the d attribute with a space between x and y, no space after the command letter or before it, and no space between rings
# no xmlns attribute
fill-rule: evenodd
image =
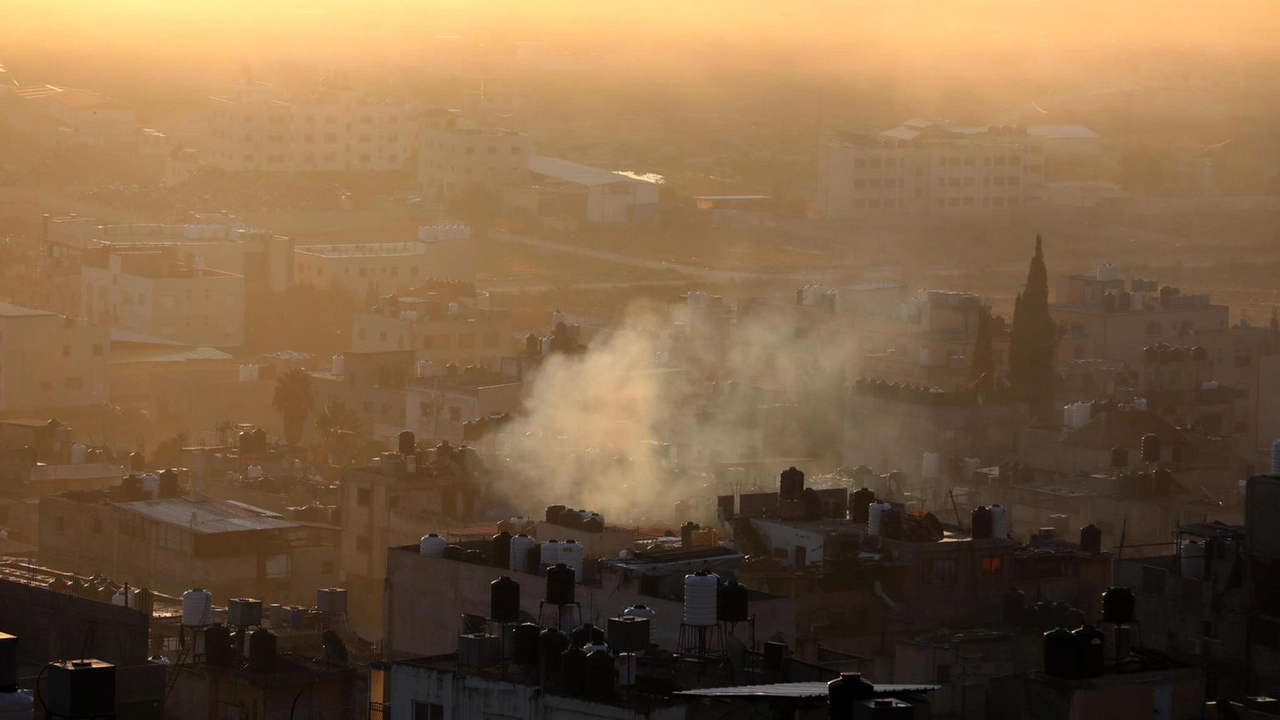
<svg viewBox="0 0 1280 720"><path fill-rule="evenodd" d="M276 597L310 605L316 588L337 584L335 527L183 496L180 488L147 500L154 495L137 486L41 498L45 562L170 594L204 587L219 598Z"/></svg>

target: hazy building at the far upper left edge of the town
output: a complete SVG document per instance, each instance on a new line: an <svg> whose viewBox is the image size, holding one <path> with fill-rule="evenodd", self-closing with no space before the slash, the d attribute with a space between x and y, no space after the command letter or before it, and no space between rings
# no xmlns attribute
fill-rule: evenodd
<svg viewBox="0 0 1280 720"><path fill-rule="evenodd" d="M5 95L9 126L44 145L131 154L138 147L137 113L105 95L52 85L13 87Z"/></svg>

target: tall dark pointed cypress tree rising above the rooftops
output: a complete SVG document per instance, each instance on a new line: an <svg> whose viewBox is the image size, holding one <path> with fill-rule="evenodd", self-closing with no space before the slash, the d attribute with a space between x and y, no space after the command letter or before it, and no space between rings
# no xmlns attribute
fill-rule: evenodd
<svg viewBox="0 0 1280 720"><path fill-rule="evenodd" d="M1053 405L1053 347L1057 327L1048 314L1048 272L1036 236L1036 255L1027 286L1014 301L1014 327L1009 343L1009 382L1030 405L1032 416L1046 419Z"/></svg>

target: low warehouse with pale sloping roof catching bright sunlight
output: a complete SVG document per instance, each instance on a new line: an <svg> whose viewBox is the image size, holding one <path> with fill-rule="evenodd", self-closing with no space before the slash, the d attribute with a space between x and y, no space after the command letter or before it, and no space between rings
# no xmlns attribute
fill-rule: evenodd
<svg viewBox="0 0 1280 720"><path fill-rule="evenodd" d="M602 170L540 155L529 158L529 172L536 187L557 196L559 214L570 219L630 223L657 218L662 178L655 176ZM541 217L540 211L530 214Z"/></svg>

